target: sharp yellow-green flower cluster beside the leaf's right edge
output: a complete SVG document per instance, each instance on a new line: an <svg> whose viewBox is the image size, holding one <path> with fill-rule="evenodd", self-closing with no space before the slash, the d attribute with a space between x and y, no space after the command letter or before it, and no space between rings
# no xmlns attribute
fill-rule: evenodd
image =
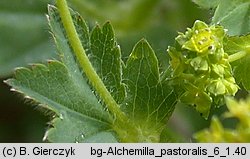
<svg viewBox="0 0 250 159"><path fill-rule="evenodd" d="M175 47L168 48L172 78L184 84L182 102L194 105L205 118L212 103L219 105L225 95L238 91L223 49L224 37L223 27L196 21L185 33L179 33Z"/></svg>

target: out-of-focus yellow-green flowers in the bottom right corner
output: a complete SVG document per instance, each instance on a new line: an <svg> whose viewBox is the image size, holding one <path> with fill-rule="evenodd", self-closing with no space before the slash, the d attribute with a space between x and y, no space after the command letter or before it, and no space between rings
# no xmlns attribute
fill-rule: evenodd
<svg viewBox="0 0 250 159"><path fill-rule="evenodd" d="M235 129L226 129L217 117L213 117L209 129L195 134L198 142L250 142L250 98L246 101L226 100L228 112L225 118L236 118L238 123Z"/></svg>

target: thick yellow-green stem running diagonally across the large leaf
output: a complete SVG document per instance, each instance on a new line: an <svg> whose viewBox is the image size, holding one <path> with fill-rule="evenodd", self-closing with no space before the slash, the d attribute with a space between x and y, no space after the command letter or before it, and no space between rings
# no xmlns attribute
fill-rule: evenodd
<svg viewBox="0 0 250 159"><path fill-rule="evenodd" d="M69 42L73 48L74 54L80 64L80 67L84 70L86 76L88 77L96 91L99 93L102 100L107 105L111 114L120 122L126 123L128 121L127 116L120 110L119 105L116 103L100 77L95 72L85 53L85 50L76 32L66 0L57 0L57 7L60 17L62 18L62 23L66 30Z"/></svg>

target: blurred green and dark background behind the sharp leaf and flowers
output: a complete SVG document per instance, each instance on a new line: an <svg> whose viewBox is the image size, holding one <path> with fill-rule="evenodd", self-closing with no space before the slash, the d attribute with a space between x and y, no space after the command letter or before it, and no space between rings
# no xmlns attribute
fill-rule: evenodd
<svg viewBox="0 0 250 159"><path fill-rule="evenodd" d="M113 24L124 60L133 45L146 38L159 59L161 70L168 65L166 49L178 31L196 19L210 22L212 10L201 10L191 0L68 0L90 26L109 20ZM57 58L46 21L52 0L0 1L0 142L42 142L49 117L35 105L10 92L3 80L15 67ZM217 110L218 113L223 108ZM192 108L178 105L168 125L176 141L190 142L192 134L209 123ZM179 136L176 136L179 134Z"/></svg>

